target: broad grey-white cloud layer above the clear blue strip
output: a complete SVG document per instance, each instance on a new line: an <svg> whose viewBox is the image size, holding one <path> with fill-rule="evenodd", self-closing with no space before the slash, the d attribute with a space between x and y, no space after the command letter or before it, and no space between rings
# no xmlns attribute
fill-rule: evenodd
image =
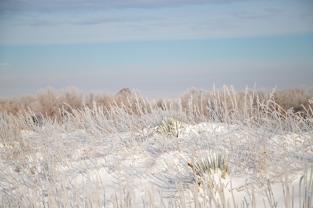
<svg viewBox="0 0 313 208"><path fill-rule="evenodd" d="M239 2L239 3L237 3ZM0 44L311 33L309 1L0 0ZM184 6L187 5L187 6ZM9 13L1 12L9 11ZM46 12L48 11L48 12Z"/></svg>

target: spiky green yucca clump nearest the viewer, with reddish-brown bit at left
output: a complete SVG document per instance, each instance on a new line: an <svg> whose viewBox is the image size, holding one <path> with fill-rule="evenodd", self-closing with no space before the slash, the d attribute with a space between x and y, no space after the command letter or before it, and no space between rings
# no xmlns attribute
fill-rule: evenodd
<svg viewBox="0 0 313 208"><path fill-rule="evenodd" d="M209 156L200 159L196 159L193 164L188 163L188 166L192 168L195 175L198 178L198 184L201 184L201 177L205 174L214 175L221 171L220 177L225 179L226 175L230 175L231 168L228 165L228 162L225 161L223 154L217 154L215 157Z"/></svg>

